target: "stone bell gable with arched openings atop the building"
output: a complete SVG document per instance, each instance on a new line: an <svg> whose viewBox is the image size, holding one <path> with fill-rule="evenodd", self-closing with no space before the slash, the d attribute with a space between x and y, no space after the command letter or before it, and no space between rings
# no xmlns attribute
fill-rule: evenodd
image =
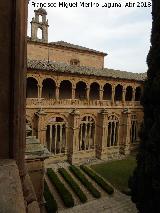
<svg viewBox="0 0 160 213"><path fill-rule="evenodd" d="M48 43L48 20L46 10L35 10L35 17L31 21L31 40Z"/></svg>

